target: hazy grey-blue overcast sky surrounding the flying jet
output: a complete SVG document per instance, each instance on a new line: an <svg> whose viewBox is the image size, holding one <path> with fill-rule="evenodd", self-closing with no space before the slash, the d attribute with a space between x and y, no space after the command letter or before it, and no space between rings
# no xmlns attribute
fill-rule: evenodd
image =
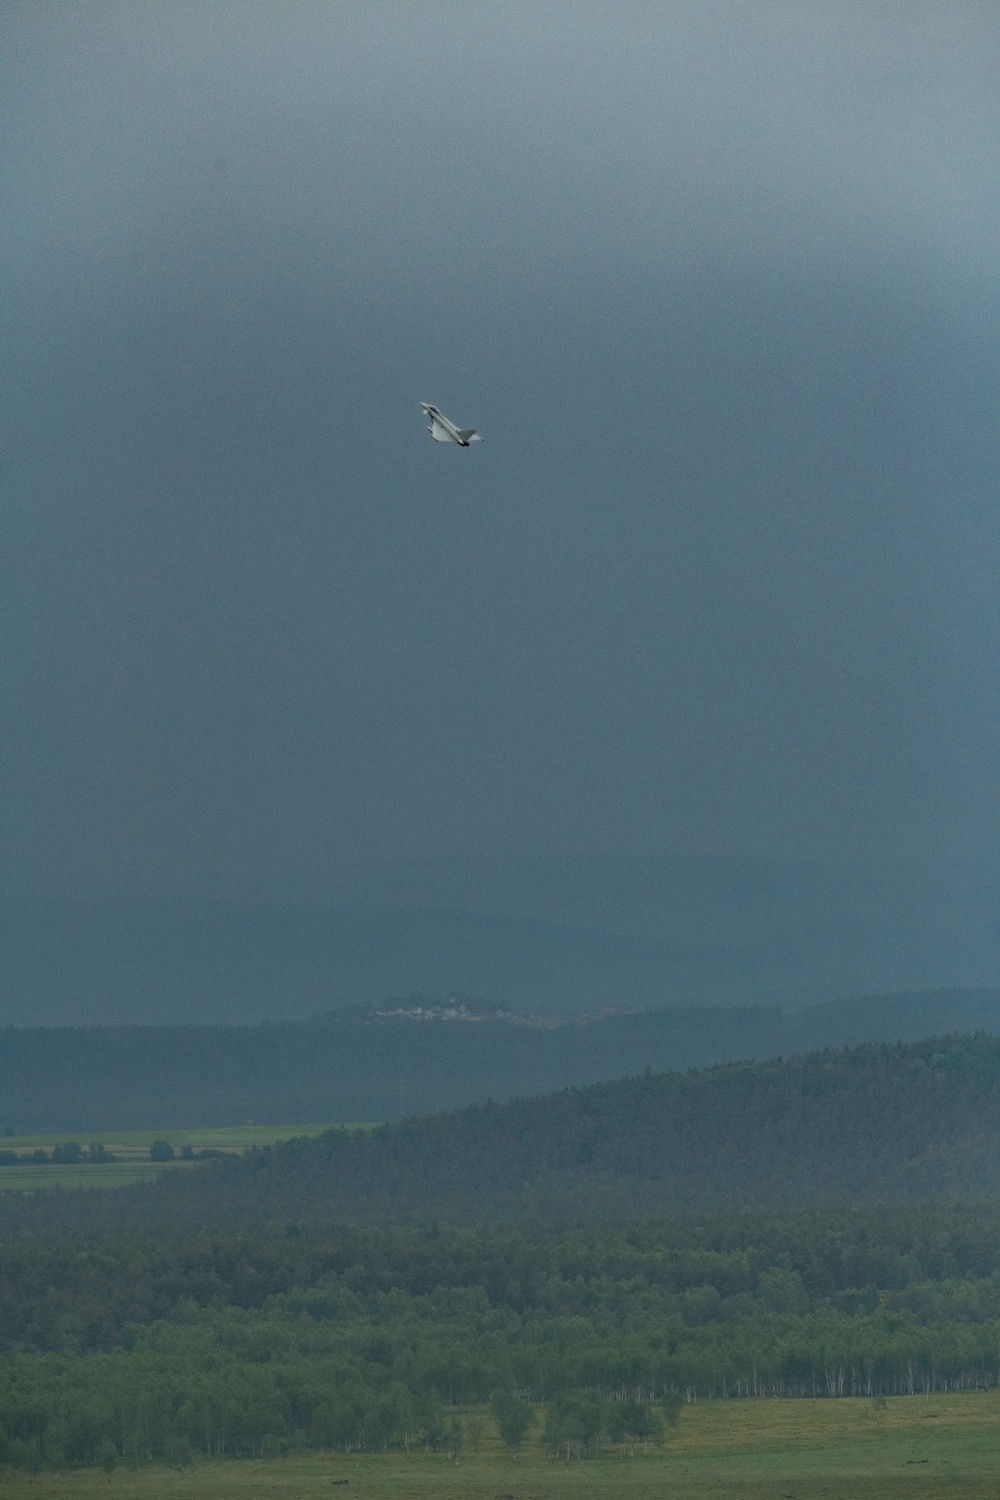
<svg viewBox="0 0 1000 1500"><path fill-rule="evenodd" d="M994 852L994 3L0 15L0 880Z"/></svg>

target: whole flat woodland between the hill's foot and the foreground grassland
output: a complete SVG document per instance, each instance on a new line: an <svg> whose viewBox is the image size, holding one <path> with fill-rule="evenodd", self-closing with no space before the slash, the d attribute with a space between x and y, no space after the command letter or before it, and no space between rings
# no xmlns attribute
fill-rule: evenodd
<svg viewBox="0 0 1000 1500"><path fill-rule="evenodd" d="M19 1232L0 1461L412 1448L565 1458L696 1396L1000 1383L1000 1204L616 1227ZM477 1436L478 1434L478 1436Z"/></svg>

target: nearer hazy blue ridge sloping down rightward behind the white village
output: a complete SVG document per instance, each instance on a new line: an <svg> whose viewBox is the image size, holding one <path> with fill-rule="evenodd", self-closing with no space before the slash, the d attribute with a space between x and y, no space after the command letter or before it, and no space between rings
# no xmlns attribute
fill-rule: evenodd
<svg viewBox="0 0 1000 1500"><path fill-rule="evenodd" d="M0 1022L247 1024L411 990L511 1010L690 1004L745 948L438 908L0 897Z"/></svg>

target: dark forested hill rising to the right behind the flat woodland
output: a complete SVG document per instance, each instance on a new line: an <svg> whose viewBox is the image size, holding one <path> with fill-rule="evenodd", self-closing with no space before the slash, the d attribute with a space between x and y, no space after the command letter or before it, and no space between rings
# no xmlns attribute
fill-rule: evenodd
<svg viewBox="0 0 1000 1500"><path fill-rule="evenodd" d="M9 1194L0 1214L468 1222L945 1196L1000 1196L1000 1040L648 1072L298 1137L117 1192Z"/></svg>

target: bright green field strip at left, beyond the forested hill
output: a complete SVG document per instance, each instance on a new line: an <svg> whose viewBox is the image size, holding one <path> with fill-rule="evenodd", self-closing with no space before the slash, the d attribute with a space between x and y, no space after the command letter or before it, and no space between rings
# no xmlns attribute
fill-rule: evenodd
<svg viewBox="0 0 1000 1500"><path fill-rule="evenodd" d="M339 1130L369 1130L369 1125L340 1125ZM288 1140L291 1136L319 1136L331 1130L330 1125L219 1125L205 1130L129 1130L84 1132L73 1136L61 1131L48 1136L3 1136L0 1149L16 1150L19 1156L30 1158L33 1150L51 1152L54 1146L63 1146L69 1140L76 1140L88 1148L91 1140L97 1140L114 1161L84 1161L79 1164L39 1162L30 1160L13 1167L0 1166L0 1191L15 1190L21 1192L36 1188L117 1188L126 1182L148 1182L163 1170L178 1170L193 1166L193 1161L180 1158L180 1152L189 1148L192 1152L222 1150L226 1155L238 1155L250 1146L267 1146L276 1140ZM154 1140L165 1140L177 1154L171 1162L151 1162L150 1146Z"/></svg>

